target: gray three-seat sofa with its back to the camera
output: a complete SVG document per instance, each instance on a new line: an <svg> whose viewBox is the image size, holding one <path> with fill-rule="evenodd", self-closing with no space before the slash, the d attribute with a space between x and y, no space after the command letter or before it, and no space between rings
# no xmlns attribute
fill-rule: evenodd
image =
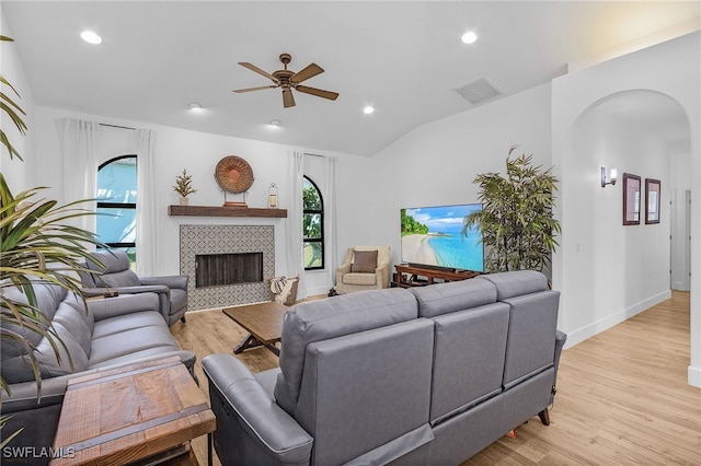
<svg viewBox="0 0 701 466"><path fill-rule="evenodd" d="M539 272L296 305L279 369L203 360L225 465L457 465L549 423L565 335Z"/></svg>

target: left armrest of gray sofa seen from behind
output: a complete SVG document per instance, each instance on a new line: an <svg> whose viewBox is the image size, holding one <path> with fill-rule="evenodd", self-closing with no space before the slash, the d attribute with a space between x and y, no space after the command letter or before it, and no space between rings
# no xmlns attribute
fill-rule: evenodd
<svg viewBox="0 0 701 466"><path fill-rule="evenodd" d="M313 438L241 361L230 354L211 354L203 359L202 366L209 380L217 417L215 446L222 464L232 458L240 464L309 464Z"/></svg>

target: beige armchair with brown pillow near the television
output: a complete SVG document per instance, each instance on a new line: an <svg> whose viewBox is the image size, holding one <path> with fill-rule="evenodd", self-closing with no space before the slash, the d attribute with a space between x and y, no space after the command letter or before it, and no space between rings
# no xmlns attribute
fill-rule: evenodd
<svg viewBox="0 0 701 466"><path fill-rule="evenodd" d="M336 268L336 292L350 293L390 286L390 246L348 247L346 259Z"/></svg>

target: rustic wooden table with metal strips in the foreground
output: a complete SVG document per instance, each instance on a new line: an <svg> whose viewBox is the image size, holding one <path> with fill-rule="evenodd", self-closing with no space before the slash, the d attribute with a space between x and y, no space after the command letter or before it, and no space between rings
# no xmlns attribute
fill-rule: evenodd
<svg viewBox="0 0 701 466"><path fill-rule="evenodd" d="M61 457L50 464L192 458L189 441L216 428L207 397L177 357L99 371L68 382L54 439Z"/></svg>

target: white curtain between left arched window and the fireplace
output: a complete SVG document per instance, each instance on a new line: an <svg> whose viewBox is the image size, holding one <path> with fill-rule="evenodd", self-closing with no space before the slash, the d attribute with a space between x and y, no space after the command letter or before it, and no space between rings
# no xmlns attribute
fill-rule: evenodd
<svg viewBox="0 0 701 466"><path fill-rule="evenodd" d="M150 129L139 129L139 148L137 152L138 199L136 203L136 268L141 276L157 273L157 217L156 208L156 140L157 133Z"/></svg>

